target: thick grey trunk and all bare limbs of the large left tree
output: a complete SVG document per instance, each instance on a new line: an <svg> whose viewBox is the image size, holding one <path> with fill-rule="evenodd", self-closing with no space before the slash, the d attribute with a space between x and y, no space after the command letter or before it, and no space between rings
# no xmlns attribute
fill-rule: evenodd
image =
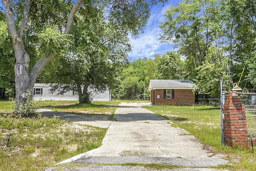
<svg viewBox="0 0 256 171"><path fill-rule="evenodd" d="M66 34L70 33L74 15L76 14L76 11L78 10L82 2L83 0L78 0L70 11L66 24ZM14 12L12 10L13 0L2 0L2 4L5 8L6 23L9 33L10 35L12 35L12 43L16 58L16 64L14 66L16 85L15 111L19 111L20 105L23 102L26 102L26 99L28 99L28 95L31 95L32 88L34 87L34 83L36 82L38 74L42 71L46 64L50 62L53 56L48 54L48 56L42 57L38 62L36 62L32 70L29 72L28 68L30 58L24 48L22 36L24 34L24 29L26 28L29 19L30 0L24 0L23 2L23 16L18 24L18 27L16 27Z"/></svg>

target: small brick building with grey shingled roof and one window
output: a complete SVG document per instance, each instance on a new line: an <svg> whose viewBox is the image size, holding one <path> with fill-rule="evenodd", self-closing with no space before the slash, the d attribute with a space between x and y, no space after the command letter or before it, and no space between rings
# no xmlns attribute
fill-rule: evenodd
<svg viewBox="0 0 256 171"><path fill-rule="evenodd" d="M151 104L194 105L193 85L190 80L150 80Z"/></svg>

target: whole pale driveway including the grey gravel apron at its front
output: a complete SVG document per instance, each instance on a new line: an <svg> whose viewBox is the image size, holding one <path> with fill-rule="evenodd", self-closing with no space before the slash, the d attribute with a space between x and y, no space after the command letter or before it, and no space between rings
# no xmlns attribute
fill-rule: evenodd
<svg viewBox="0 0 256 171"><path fill-rule="evenodd" d="M228 163L208 153L189 132L172 127L164 117L142 109L142 105L148 103L120 103L115 111L117 121L109 121L102 145L60 163L134 162L193 167Z"/></svg>

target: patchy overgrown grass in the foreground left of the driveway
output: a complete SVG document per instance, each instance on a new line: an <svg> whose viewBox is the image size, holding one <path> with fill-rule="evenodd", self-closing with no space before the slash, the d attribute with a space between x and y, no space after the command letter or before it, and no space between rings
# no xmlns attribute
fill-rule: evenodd
<svg viewBox="0 0 256 171"><path fill-rule="evenodd" d="M12 136L6 147L8 133ZM56 117L0 116L0 170L43 170L99 147L105 134L106 129L75 125Z"/></svg>

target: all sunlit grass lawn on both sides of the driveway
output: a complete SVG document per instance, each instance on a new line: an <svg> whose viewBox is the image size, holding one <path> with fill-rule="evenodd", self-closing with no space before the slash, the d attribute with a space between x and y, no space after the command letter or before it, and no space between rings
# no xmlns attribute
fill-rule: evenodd
<svg viewBox="0 0 256 171"><path fill-rule="evenodd" d="M40 107L83 115L112 115L122 101L93 101L80 105L77 101L39 101ZM126 101L133 102L133 101ZM142 101L136 101L142 102ZM145 106L172 122L172 126L189 131L215 154L222 154L233 165L215 169L255 170L256 155L251 147L227 147L220 143L220 109L211 106ZM74 125L57 118L12 118L8 112L14 101L0 101L0 170L42 170L45 166L100 146L106 129ZM81 113L83 111L83 113ZM6 134L11 133L10 147ZM137 165L134 163L134 165ZM151 166L150 166L151 167ZM167 168L153 165L152 168Z"/></svg>

